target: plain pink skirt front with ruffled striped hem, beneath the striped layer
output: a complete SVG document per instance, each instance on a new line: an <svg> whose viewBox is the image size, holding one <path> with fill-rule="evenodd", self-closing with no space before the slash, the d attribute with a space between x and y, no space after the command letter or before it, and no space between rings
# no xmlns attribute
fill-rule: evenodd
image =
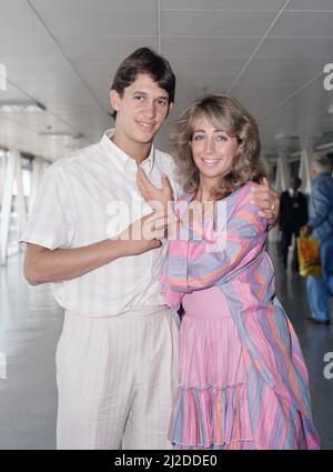
<svg viewBox="0 0 333 472"><path fill-rule="evenodd" d="M252 449L242 344L231 313L221 310L225 299L212 287L185 294L182 304L181 384L170 439L178 449Z"/></svg>

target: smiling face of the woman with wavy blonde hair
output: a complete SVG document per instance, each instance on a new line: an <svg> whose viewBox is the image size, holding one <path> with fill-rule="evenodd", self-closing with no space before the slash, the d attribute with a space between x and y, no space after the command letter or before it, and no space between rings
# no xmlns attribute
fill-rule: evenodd
<svg viewBox="0 0 333 472"><path fill-rule="evenodd" d="M216 179L230 172L238 147L235 137L216 129L204 116L194 121L192 154L195 165L205 178Z"/></svg>

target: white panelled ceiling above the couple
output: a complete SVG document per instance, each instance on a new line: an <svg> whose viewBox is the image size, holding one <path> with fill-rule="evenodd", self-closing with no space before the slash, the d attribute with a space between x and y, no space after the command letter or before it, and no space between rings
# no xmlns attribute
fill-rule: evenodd
<svg viewBox="0 0 333 472"><path fill-rule="evenodd" d="M333 0L0 0L8 79L0 101L47 107L1 112L0 147L54 160L99 140L113 122L113 73L140 46L160 50L176 73L170 120L203 91L228 91L259 120L266 154L276 135L319 139L333 130L333 91L323 88ZM84 137L40 135L48 130ZM164 149L168 131L159 138Z"/></svg>

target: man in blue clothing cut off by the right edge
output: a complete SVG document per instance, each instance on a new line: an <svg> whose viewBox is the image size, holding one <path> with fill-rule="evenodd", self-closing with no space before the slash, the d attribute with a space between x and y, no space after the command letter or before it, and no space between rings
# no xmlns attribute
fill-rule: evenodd
<svg viewBox="0 0 333 472"><path fill-rule="evenodd" d="M330 324L330 294L333 295L333 179L330 160L315 154L311 162L312 191L305 234L314 233L321 252L321 277L307 277L307 301L312 323Z"/></svg>

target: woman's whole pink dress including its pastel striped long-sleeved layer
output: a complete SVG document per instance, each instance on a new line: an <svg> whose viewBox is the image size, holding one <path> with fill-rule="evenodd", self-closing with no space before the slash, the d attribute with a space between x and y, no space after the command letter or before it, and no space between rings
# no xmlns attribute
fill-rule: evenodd
<svg viewBox="0 0 333 472"><path fill-rule="evenodd" d="M169 433L176 449L319 449L307 370L275 297L251 185L225 199L221 251L194 230L169 241L161 282L167 303L184 309Z"/></svg>

